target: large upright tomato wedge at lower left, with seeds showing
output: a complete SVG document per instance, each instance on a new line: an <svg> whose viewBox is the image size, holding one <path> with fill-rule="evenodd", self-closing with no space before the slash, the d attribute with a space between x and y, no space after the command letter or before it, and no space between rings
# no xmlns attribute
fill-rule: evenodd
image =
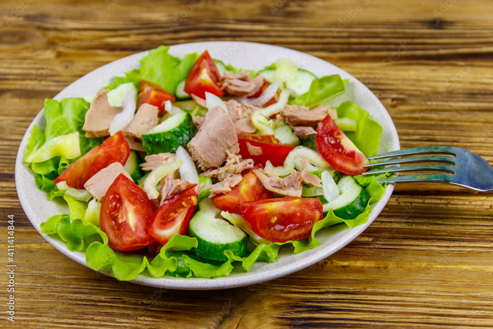
<svg viewBox="0 0 493 329"><path fill-rule="evenodd" d="M101 202L99 223L108 236L108 245L118 251L142 249L153 243L147 225L154 213L154 202L125 175L120 174Z"/></svg>

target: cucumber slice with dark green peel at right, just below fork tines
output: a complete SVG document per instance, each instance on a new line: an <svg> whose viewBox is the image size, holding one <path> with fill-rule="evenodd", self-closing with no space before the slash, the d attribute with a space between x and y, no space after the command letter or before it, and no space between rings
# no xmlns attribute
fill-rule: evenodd
<svg viewBox="0 0 493 329"><path fill-rule="evenodd" d="M337 187L342 194L323 205L323 212L332 209L337 217L353 219L365 210L370 196L352 176L341 178Z"/></svg>

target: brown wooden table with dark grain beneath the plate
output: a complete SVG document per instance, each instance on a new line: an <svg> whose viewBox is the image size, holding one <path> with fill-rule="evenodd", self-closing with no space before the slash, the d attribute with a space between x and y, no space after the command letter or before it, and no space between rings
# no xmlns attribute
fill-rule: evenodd
<svg viewBox="0 0 493 329"><path fill-rule="evenodd" d="M493 328L493 194L400 184L346 248L244 288L160 291L63 256L17 198L14 160L43 99L161 44L271 43L331 62L387 108L401 147L467 148L493 163L493 14L488 0L2 0L1 249L15 216L10 328ZM5 253L6 254L6 253Z"/></svg>

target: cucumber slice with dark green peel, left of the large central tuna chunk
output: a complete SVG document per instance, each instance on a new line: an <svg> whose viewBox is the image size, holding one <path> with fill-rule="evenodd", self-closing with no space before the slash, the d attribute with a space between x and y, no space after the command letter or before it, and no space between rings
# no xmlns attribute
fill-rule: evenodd
<svg viewBox="0 0 493 329"><path fill-rule="evenodd" d="M147 155L175 152L180 145L186 147L195 136L195 130L192 116L181 110L142 134L142 146Z"/></svg>

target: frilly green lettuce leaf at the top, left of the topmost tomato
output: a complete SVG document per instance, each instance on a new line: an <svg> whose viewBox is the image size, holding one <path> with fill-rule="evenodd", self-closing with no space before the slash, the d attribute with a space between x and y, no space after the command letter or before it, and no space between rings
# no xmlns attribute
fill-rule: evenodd
<svg viewBox="0 0 493 329"><path fill-rule="evenodd" d="M183 56L183 59L171 56L168 53L170 47L159 46L149 51L149 54L141 59L141 67L125 73L124 77L116 77L115 81L105 87L114 89L122 83L133 82L136 88L142 79L157 83L164 90L175 94L178 82L186 78L188 71L197 61L199 55L191 53Z"/></svg>

